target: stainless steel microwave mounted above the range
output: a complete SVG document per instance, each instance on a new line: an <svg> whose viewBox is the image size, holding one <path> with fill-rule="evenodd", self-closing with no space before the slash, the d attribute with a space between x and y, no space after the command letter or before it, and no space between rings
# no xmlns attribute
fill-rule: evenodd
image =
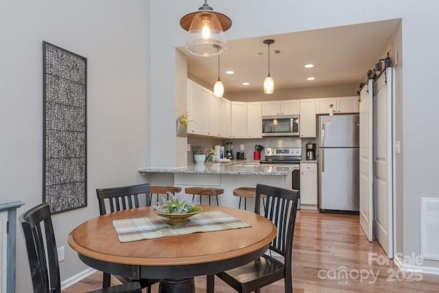
<svg viewBox="0 0 439 293"><path fill-rule="evenodd" d="M299 115L262 116L263 137L291 137L299 135Z"/></svg>

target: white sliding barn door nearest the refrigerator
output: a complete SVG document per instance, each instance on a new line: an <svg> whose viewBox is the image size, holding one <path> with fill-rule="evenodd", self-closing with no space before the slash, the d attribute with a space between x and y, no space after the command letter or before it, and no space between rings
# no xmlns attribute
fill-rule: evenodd
<svg viewBox="0 0 439 293"><path fill-rule="evenodd" d="M360 91L359 102L359 224L373 239L373 81Z"/></svg>

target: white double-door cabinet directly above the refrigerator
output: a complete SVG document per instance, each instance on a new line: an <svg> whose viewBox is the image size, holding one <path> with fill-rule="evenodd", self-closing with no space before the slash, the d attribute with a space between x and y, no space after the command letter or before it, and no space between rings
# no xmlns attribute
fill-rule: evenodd
<svg viewBox="0 0 439 293"><path fill-rule="evenodd" d="M316 113L329 114L329 105L333 105L334 113L358 113L359 102L357 96L352 97L324 97L316 99Z"/></svg>

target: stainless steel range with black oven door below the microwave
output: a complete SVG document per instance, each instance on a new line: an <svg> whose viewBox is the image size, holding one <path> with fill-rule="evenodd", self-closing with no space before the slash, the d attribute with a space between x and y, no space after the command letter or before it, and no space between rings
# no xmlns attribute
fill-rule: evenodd
<svg viewBox="0 0 439 293"><path fill-rule="evenodd" d="M261 164L283 164L292 167L292 189L300 190L300 161L302 148L265 148L265 160ZM300 198L298 202L300 209Z"/></svg>

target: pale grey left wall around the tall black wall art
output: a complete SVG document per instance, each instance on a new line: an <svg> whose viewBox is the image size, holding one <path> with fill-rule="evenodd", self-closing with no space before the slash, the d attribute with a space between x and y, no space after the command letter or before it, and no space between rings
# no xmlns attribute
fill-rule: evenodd
<svg viewBox="0 0 439 293"><path fill-rule="evenodd" d="M147 161L149 1L0 0L0 194L42 202L42 41L88 58L88 207L54 215L65 280L86 266L67 244L75 226L99 215L95 189L141 183ZM16 292L32 292L21 226Z"/></svg>

